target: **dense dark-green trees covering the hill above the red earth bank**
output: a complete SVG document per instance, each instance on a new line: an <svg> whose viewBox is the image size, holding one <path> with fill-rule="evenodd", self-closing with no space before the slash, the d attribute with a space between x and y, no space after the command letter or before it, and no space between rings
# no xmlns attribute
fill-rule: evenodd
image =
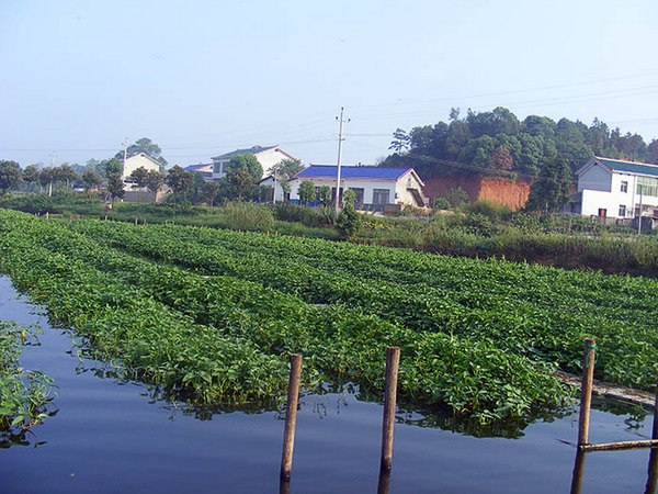
<svg viewBox="0 0 658 494"><path fill-rule="evenodd" d="M449 122L406 132L397 128L392 154L382 166L413 167L423 178L478 175L533 181L530 209L558 210L568 198L575 171L593 156L658 164L658 139L623 134L594 119L580 121L529 115L520 121L510 110L452 109Z"/></svg>

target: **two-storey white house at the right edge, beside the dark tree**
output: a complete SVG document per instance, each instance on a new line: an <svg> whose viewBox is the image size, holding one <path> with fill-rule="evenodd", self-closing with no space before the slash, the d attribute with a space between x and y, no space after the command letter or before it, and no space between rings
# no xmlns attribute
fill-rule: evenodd
<svg viewBox="0 0 658 494"><path fill-rule="evenodd" d="M587 216L658 216L658 166L593 157L577 172L569 211Z"/></svg>

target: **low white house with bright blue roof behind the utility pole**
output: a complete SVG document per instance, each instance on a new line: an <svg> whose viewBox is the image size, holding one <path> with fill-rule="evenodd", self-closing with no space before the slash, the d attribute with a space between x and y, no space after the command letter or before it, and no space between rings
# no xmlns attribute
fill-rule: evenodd
<svg viewBox="0 0 658 494"><path fill-rule="evenodd" d="M428 204L422 193L424 183L413 168L381 167L340 167L340 197L345 189L356 194L360 209L383 211L386 204L409 204L418 207ZM336 197L337 167L311 165L291 179L291 199L299 199L299 184L310 180L316 186L331 188L331 197Z"/></svg>

